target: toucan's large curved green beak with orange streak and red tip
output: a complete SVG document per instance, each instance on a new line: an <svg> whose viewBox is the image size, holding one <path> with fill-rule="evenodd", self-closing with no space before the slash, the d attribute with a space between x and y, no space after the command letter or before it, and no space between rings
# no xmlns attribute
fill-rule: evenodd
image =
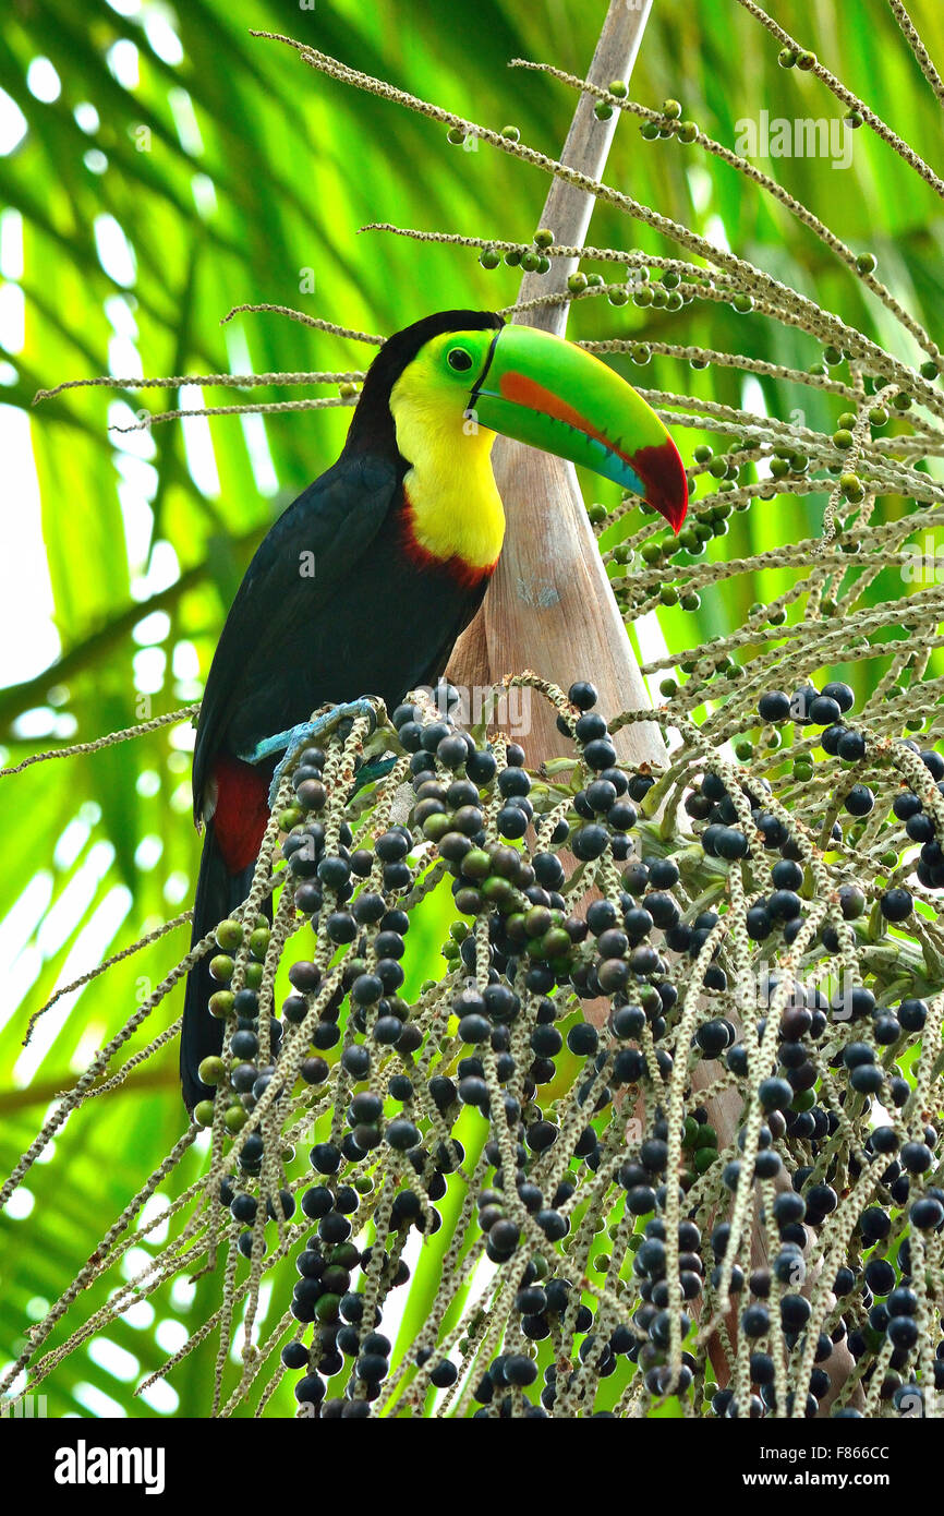
<svg viewBox="0 0 944 1516"><path fill-rule="evenodd" d="M574 343L503 326L468 403L489 431L642 496L673 531L685 520L685 467L662 421L632 385Z"/></svg>

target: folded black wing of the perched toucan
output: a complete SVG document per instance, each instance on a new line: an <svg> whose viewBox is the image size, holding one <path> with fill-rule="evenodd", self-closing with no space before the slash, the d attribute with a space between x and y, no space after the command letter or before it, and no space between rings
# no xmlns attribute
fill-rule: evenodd
<svg viewBox="0 0 944 1516"><path fill-rule="evenodd" d="M395 464L344 455L305 490L259 544L211 664L194 747L194 816L221 747L292 725L280 716L279 673L289 644L318 625L380 531L400 491ZM312 659L318 655L312 647ZM311 669L317 682L317 669ZM326 699L327 696L321 696ZM270 716L270 711L273 713ZM303 711L299 720L308 717ZM273 725L274 723L274 725Z"/></svg>

